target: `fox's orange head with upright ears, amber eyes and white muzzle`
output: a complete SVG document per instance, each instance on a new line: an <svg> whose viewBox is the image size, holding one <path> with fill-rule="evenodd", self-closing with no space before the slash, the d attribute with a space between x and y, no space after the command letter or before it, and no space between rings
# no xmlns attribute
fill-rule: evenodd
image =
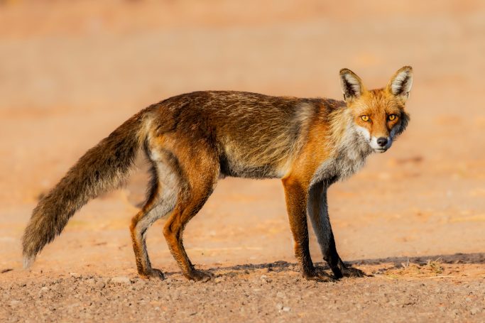
<svg viewBox="0 0 485 323"><path fill-rule="evenodd" d="M359 135L376 153L391 148L408 124L404 106L413 85L413 68L400 68L382 89L367 90L361 78L347 68L340 70L340 82Z"/></svg>

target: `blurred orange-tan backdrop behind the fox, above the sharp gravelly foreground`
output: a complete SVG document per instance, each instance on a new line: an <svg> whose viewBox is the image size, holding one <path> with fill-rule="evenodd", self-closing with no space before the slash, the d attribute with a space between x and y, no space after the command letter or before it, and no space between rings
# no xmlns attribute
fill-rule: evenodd
<svg viewBox="0 0 485 323"><path fill-rule="evenodd" d="M415 70L408 130L330 190L339 253L484 251L484 53L480 0L0 1L0 265L20 266L38 196L149 104L204 89L340 99L342 67L374 88L403 65ZM134 272L139 166L72 219L39 268ZM152 263L175 269L162 226L148 238ZM185 244L209 267L294 261L280 182L219 182Z"/></svg>

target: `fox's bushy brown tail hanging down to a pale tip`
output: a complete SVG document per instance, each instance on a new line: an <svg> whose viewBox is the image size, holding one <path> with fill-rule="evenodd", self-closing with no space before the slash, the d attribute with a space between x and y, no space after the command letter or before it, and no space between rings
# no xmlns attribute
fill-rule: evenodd
<svg viewBox="0 0 485 323"><path fill-rule="evenodd" d="M87 150L58 185L40 199L23 234L24 268L33 263L42 248L60 234L67 221L89 199L124 182L146 136L143 112Z"/></svg>

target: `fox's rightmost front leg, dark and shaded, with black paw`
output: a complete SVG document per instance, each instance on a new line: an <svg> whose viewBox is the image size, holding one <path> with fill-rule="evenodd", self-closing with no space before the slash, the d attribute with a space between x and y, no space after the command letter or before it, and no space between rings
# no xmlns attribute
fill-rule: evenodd
<svg viewBox="0 0 485 323"><path fill-rule="evenodd" d="M339 279L343 276L363 277L365 275L364 272L356 268L347 267L337 253L334 234L328 215L327 185L324 182L317 182L310 187L307 212L312 222L315 235L317 236L323 259L327 261L335 278Z"/></svg>

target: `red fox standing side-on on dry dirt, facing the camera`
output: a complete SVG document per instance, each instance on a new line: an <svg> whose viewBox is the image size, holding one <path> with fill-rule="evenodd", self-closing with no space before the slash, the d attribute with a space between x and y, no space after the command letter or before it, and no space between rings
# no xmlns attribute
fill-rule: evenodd
<svg viewBox="0 0 485 323"><path fill-rule="evenodd" d="M151 163L151 183L130 226L141 277L163 279L162 271L151 266L145 242L148 227L161 217L168 217L163 234L183 275L196 281L212 277L192 265L182 232L226 176L282 180L304 278L328 280L310 258L307 217L334 277L364 275L337 253L327 188L354 174L371 153L388 150L404 131L413 70L400 68L381 89L367 90L347 69L340 71L340 82L344 101L207 91L141 110L88 150L40 199L23 234L24 266L89 199L122 185L143 150Z"/></svg>

